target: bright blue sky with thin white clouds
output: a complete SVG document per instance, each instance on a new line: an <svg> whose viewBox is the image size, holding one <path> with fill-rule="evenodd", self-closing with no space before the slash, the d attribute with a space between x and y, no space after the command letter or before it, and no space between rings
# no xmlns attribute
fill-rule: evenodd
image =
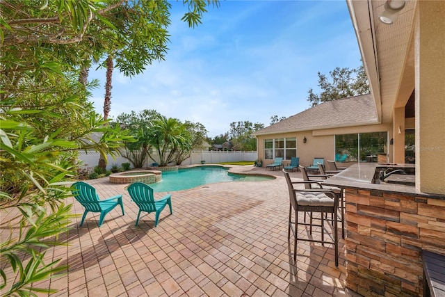
<svg viewBox="0 0 445 297"><path fill-rule="evenodd" d="M213 138L230 123L270 125L309 108L307 92L318 88L318 72L360 65L357 38L345 0L220 1L202 24L181 21L182 1L172 1L165 61L143 74L113 72L110 118L154 109L167 118L200 122ZM103 114L105 70L92 102Z"/></svg>

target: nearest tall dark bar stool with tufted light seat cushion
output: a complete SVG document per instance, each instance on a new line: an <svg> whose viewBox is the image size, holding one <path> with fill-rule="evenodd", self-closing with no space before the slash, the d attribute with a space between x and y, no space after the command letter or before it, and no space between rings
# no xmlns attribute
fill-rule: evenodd
<svg viewBox="0 0 445 297"><path fill-rule="evenodd" d="M300 167L301 168L301 167ZM322 243L333 244L335 249L335 266L339 266L339 237L337 235L337 207L339 204L339 196L334 192L325 190L321 188L321 184L318 182L293 182L291 177L289 177L289 172L282 170L284 177L286 178L287 186L289 188L289 226L287 230L287 240L291 239L291 231L293 233L293 261L297 260L297 241L310 241ZM295 185L298 184L318 184L320 188L317 189L304 189L296 188ZM292 211L293 210L293 211ZM298 213L305 212L310 214L309 223L300 222L298 220ZM294 217L292 216L294 212ZM314 216L314 213L319 213L320 216ZM325 227L325 215L332 214L334 230L333 234ZM293 220L292 220L293 219ZM319 223L314 223L314 220ZM300 225L309 226L309 236L302 237L298 231ZM312 237L312 227L321 228L321 240L314 239ZM330 239L325 239L325 233L330 237Z"/></svg>

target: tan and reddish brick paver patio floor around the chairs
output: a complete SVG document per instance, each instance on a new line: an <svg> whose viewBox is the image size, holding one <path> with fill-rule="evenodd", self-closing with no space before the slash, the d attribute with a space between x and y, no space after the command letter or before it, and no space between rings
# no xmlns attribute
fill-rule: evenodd
<svg viewBox="0 0 445 297"><path fill-rule="evenodd" d="M83 208L70 198L79 217L60 238L69 246L47 250L49 259L61 258L69 268L39 287L58 289L52 296L355 296L344 289L343 240L338 268L332 246L304 241L293 264L282 172L234 170L277 178L172 192L173 214L164 209L157 227L154 214L145 213L134 226L138 207L124 190L127 185L111 184L108 177L88 181L102 199L124 194L125 215L116 207L97 227L99 214L89 213L79 227Z"/></svg>

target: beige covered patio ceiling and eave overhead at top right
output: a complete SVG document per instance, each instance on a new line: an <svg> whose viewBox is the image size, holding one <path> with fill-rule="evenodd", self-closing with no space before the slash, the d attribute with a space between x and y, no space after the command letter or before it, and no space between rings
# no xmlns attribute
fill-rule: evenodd
<svg viewBox="0 0 445 297"><path fill-rule="evenodd" d="M394 24L378 19L385 1L347 0L378 119L393 120L394 108L405 106L414 90L414 11L406 1Z"/></svg>

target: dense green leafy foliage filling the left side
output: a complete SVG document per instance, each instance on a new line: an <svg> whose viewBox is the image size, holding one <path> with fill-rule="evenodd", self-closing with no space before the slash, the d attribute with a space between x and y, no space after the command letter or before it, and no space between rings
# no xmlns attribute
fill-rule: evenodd
<svg viewBox="0 0 445 297"><path fill-rule="evenodd" d="M184 3L184 20L198 24L210 2ZM2 229L10 230L0 235L1 295L51 293L35 282L65 271L58 259L45 257L45 250L65 244L58 236L67 232L72 218L65 198L70 196L67 184L76 176L77 152L97 150L106 159L133 141L95 113L88 97L97 82L88 82L86 70L91 61L112 53L124 73L142 71L157 58L146 51L165 48L157 34L166 34L169 5L1 0L0 216ZM145 14L136 13L139 8ZM131 42L138 40L134 46L139 51L133 52L125 30L138 24L143 26L135 29Z"/></svg>

